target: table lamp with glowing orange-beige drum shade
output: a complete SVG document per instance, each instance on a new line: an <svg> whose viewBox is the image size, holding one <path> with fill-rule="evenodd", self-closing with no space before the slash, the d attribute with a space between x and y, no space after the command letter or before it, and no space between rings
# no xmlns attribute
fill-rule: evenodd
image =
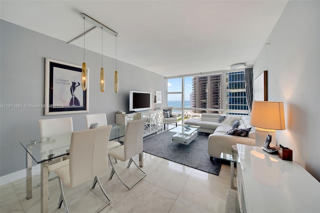
<svg viewBox="0 0 320 213"><path fill-rule="evenodd" d="M250 124L255 127L256 146L263 146L267 134L275 145L275 130L285 129L283 102L253 101Z"/></svg>

